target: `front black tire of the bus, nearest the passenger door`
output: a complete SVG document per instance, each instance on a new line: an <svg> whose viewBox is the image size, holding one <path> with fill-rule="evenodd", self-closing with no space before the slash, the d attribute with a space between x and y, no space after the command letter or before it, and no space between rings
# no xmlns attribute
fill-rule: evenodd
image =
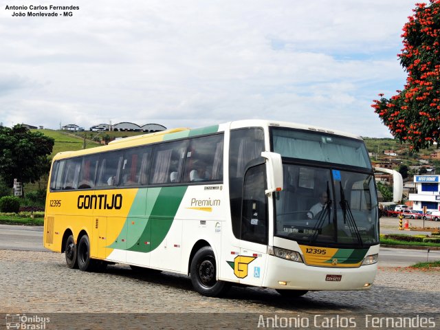
<svg viewBox="0 0 440 330"><path fill-rule="evenodd" d="M230 288L230 283L217 281L217 264L210 246L203 246L192 258L190 277L195 291L202 296L218 297Z"/></svg>

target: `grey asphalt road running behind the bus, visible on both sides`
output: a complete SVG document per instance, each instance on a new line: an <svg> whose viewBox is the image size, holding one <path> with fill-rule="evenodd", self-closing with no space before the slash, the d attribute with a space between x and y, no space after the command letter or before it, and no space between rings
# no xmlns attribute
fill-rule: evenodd
<svg viewBox="0 0 440 330"><path fill-rule="evenodd" d="M0 225L0 250L48 251L43 248L43 227ZM427 260L440 260L440 251L380 248L379 266L406 267Z"/></svg>

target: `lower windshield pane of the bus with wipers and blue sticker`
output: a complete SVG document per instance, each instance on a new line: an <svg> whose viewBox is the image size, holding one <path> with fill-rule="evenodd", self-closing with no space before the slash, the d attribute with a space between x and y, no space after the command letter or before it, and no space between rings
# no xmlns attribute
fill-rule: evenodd
<svg viewBox="0 0 440 330"><path fill-rule="evenodd" d="M379 243L373 175L283 164L275 235L306 244Z"/></svg>

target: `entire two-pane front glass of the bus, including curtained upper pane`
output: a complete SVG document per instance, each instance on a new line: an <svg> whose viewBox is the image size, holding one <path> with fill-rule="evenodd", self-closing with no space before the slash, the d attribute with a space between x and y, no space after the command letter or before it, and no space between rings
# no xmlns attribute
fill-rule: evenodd
<svg viewBox="0 0 440 330"><path fill-rule="evenodd" d="M272 145L284 175L275 236L309 245L379 243L375 181L362 140L274 128Z"/></svg>

